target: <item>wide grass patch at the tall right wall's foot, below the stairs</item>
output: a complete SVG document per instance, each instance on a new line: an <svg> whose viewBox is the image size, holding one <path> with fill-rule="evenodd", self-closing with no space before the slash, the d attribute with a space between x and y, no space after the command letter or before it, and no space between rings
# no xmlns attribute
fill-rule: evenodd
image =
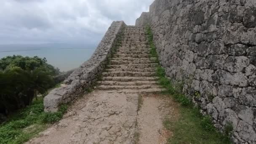
<svg viewBox="0 0 256 144"><path fill-rule="evenodd" d="M165 128L173 132L168 144L231 144L230 135L217 132L210 117L203 117L199 109L179 107L179 112L178 121L164 121Z"/></svg>

